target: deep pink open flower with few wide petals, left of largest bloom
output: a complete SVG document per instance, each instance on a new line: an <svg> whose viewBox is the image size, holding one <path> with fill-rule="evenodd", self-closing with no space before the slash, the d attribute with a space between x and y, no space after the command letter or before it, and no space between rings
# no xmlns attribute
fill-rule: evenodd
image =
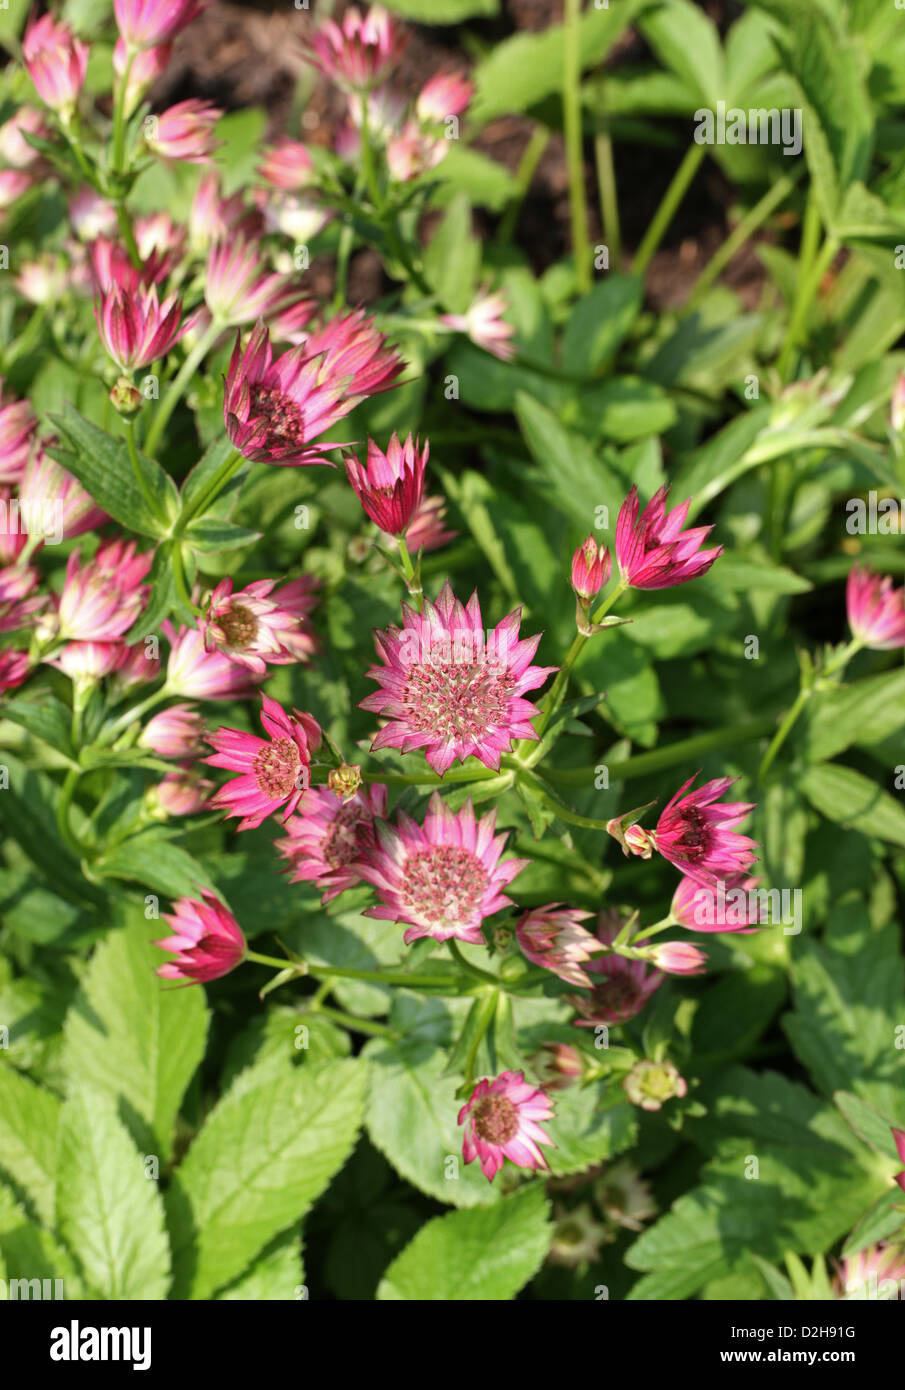
<svg viewBox="0 0 905 1390"><path fill-rule="evenodd" d="M267 738L238 728L218 728L207 735L215 749L204 762L240 773L211 796L211 806L227 819L239 816L239 830L254 830L284 808L282 819L297 808L310 781L311 753L320 746L321 731L311 714L286 712L263 695L261 724Z"/></svg>

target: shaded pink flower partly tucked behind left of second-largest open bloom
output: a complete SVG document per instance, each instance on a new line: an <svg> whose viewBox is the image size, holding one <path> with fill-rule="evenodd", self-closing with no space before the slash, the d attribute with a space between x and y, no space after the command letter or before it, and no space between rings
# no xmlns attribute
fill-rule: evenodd
<svg viewBox="0 0 905 1390"><path fill-rule="evenodd" d="M289 862L289 883L313 883L324 902L361 883L361 858L377 844L374 820L385 815L382 785L360 787L348 801L327 787L310 787L286 821L288 840L277 841Z"/></svg>

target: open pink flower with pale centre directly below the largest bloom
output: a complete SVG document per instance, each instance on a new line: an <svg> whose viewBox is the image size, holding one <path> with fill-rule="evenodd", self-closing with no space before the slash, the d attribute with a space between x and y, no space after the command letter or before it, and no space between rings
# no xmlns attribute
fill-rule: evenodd
<svg viewBox="0 0 905 1390"><path fill-rule="evenodd" d="M378 845L363 860L361 877L377 888L380 906L366 917L407 922L405 941L470 941L480 945L485 917L512 905L502 890L528 863L500 863L507 835L495 835L496 812L475 820L471 802L455 815L438 792L431 796L424 826L403 810L398 828L377 824Z"/></svg>

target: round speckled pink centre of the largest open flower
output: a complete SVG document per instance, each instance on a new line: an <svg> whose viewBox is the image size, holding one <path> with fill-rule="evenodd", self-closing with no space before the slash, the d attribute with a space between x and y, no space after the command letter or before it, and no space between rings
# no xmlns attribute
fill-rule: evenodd
<svg viewBox="0 0 905 1390"><path fill-rule="evenodd" d="M467 657L411 666L402 702L414 731L463 742L482 738L492 724L507 723L512 674L499 662L475 657L471 644Z"/></svg>

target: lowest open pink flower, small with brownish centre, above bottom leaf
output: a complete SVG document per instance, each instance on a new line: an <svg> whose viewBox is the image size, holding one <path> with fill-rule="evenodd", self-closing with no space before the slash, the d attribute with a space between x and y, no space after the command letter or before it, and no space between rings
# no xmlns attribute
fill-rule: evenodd
<svg viewBox="0 0 905 1390"><path fill-rule="evenodd" d="M462 1145L466 1163L477 1158L491 1183L505 1158L517 1168L548 1168L539 1145L556 1145L538 1120L552 1118L549 1095L525 1081L524 1072L500 1072L492 1081L478 1081L471 1099L459 1111L459 1123L466 1126Z"/></svg>

